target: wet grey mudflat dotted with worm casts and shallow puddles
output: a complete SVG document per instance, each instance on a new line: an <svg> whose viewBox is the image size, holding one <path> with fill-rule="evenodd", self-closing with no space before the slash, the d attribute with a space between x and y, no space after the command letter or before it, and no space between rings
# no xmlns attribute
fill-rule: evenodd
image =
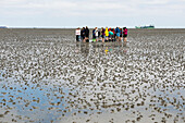
<svg viewBox="0 0 185 123"><path fill-rule="evenodd" d="M185 29L106 44L74 34L0 29L0 122L185 122Z"/></svg>

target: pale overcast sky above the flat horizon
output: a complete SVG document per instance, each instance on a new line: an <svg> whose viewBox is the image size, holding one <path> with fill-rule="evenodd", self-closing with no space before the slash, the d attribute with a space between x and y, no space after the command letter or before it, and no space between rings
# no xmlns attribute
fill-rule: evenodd
<svg viewBox="0 0 185 123"><path fill-rule="evenodd" d="M127 26L185 28L185 0L0 0L9 27Z"/></svg>

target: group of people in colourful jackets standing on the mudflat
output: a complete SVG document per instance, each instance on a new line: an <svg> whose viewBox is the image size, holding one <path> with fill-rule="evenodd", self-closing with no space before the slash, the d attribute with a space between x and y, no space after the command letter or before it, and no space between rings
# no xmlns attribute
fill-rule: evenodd
<svg viewBox="0 0 185 123"><path fill-rule="evenodd" d="M115 28L103 28L95 27L92 29L92 41L126 41L127 39L127 28L126 27L115 27ZM82 29L76 28L76 41L89 42L89 28L83 27Z"/></svg>

